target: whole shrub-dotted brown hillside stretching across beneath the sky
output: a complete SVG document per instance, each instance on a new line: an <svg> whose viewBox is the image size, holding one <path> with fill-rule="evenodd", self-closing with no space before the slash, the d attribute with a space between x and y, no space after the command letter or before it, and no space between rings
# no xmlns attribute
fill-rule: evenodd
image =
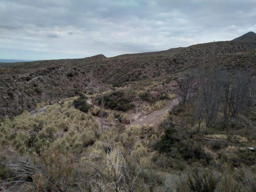
<svg viewBox="0 0 256 192"><path fill-rule="evenodd" d="M81 59L0 63L0 114L12 115L35 108L41 101L92 91L98 81L113 86L173 74L198 65L215 49L215 65L229 69L256 67L256 38L249 32L232 41L203 43L165 51L96 55ZM206 64L208 63L206 59ZM70 73L70 75L68 75ZM72 75L73 74L73 75ZM70 77L72 76L72 77Z"/></svg>

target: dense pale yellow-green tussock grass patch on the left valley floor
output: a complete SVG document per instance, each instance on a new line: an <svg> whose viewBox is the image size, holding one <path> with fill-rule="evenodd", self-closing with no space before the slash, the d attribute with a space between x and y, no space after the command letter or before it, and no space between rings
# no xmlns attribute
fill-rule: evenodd
<svg viewBox="0 0 256 192"><path fill-rule="evenodd" d="M12 144L20 153L40 153L50 146L82 151L92 144L99 126L95 118L70 106L70 99L47 106L45 113L32 117L25 111L0 123L1 144ZM38 104L39 107L46 103Z"/></svg>

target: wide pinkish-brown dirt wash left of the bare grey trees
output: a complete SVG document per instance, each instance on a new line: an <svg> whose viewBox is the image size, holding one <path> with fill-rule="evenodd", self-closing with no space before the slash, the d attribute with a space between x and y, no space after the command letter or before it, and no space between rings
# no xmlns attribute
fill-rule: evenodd
<svg viewBox="0 0 256 192"><path fill-rule="evenodd" d="M179 103L179 99L175 98L173 101L167 101L167 105L165 105L160 110L155 110L149 113L148 115L137 115L139 118L135 119L131 123L127 125L127 127L130 127L131 125L140 125L143 124L153 124L154 129L158 127L158 125L161 122L162 116L167 112L168 110L172 109L175 105Z"/></svg>

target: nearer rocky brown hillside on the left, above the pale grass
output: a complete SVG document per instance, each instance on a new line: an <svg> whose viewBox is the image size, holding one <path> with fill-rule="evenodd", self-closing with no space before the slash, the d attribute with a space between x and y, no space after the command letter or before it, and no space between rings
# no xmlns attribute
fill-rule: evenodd
<svg viewBox="0 0 256 192"><path fill-rule="evenodd" d="M37 68L27 73L1 74L0 77L0 116L34 110L42 101L52 103L79 92L104 89L90 75L67 64Z"/></svg>

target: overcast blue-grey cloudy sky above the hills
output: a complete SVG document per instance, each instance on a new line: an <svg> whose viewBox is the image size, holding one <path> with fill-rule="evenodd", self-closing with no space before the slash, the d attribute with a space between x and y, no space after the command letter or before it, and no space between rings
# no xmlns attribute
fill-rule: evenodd
<svg viewBox="0 0 256 192"><path fill-rule="evenodd" d="M256 0L0 0L1 59L160 51L256 32Z"/></svg>

